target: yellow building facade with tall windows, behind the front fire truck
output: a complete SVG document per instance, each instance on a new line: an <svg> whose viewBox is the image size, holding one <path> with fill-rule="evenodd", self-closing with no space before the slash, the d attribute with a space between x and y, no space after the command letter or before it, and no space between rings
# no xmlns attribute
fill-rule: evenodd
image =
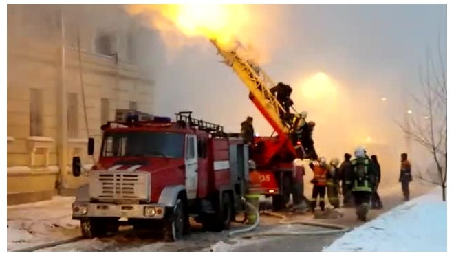
<svg viewBox="0 0 454 255"><path fill-rule="evenodd" d="M153 113L152 33L116 5L8 5L8 205L74 192L87 137L98 155L115 109Z"/></svg>

